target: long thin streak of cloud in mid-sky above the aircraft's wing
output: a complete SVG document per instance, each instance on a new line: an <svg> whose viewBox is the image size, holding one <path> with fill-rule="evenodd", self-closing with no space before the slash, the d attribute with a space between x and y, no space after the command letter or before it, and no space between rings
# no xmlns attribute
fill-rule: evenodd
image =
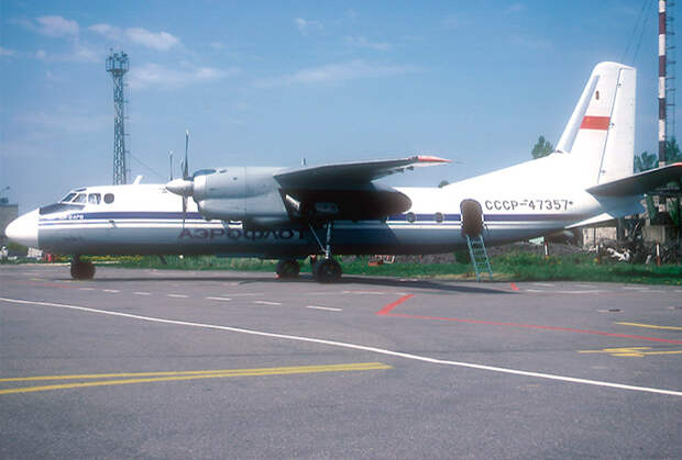
<svg viewBox="0 0 682 460"><path fill-rule="evenodd" d="M397 66L384 63L366 63L364 60L352 60L350 63L311 67L278 78L260 80L255 82L255 86L267 88L288 85L333 83L338 81L356 80L361 78L388 77L394 75L407 74L410 71L417 71L417 68L411 66Z"/></svg>

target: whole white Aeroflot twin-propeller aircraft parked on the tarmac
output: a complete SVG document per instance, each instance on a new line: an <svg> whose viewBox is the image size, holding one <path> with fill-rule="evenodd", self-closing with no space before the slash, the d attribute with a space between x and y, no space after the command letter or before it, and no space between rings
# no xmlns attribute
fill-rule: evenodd
<svg viewBox="0 0 682 460"><path fill-rule="evenodd" d="M641 212L645 192L682 177L682 164L632 175L635 89L634 68L598 64L553 154L443 188L374 182L447 161L430 156L191 177L185 160L184 178L166 184L75 189L13 221L7 235L74 255L75 279L95 274L81 255L261 257L279 259L280 277L320 255L314 273L329 282L341 277L332 255L452 251L465 246L468 222L483 220L488 245L596 224Z"/></svg>

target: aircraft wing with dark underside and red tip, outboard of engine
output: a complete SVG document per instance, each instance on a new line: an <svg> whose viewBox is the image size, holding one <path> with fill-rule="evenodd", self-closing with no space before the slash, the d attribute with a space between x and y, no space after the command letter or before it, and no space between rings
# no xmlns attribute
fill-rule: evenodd
<svg viewBox="0 0 682 460"><path fill-rule="evenodd" d="M284 188L329 188L369 183L396 172L420 166L433 166L450 160L432 156L414 156L391 160L353 161L302 167L274 175Z"/></svg>

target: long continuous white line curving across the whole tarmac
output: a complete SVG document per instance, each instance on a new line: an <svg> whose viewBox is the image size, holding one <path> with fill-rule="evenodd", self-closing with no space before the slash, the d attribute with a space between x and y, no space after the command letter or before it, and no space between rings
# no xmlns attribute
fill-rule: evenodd
<svg viewBox="0 0 682 460"><path fill-rule="evenodd" d="M639 391L639 392L646 392L646 393L658 393L658 394L668 394L671 396L682 396L682 391L662 390L662 389L654 389L654 388L649 388L649 386L635 386L635 385L627 385L623 383L603 382L598 380L580 379L575 377L558 375L558 374L552 374L552 373L532 372L532 371L524 371L524 370L508 369L508 368L498 368L495 366L475 364L475 363L461 362L461 361L449 361L444 359L429 358L426 356L405 354L400 351L392 351L392 350L387 350L384 348L369 347L364 345L355 345L355 344L349 344L344 341L326 340L321 338L294 336L294 335L287 335L287 334L265 333L261 330L243 329L240 327L231 327L231 326L220 326L216 324L189 323L185 321L166 319L166 318L160 318L160 317L153 317L153 316L141 316L141 315L133 315L130 313L111 312L108 310L97 310L97 308L89 308L86 306L67 305L67 304L61 304L61 303L36 302L36 301L25 301L25 300L20 300L20 299L6 299L6 298L0 298L0 302L16 303L16 304L24 304L24 305L53 306L57 308L68 308L68 310L77 310L80 312L98 313L100 315L121 316L121 317L127 317L127 318L132 318L132 319L147 321L152 323L200 327L205 329L228 330L231 333L278 338L283 340L306 341L309 344L320 344L320 345L328 345L331 347L340 347L340 348L349 348L353 350L370 351L370 352L374 352L378 355L394 356L397 358L411 359L415 361L429 362L433 364L444 364L444 366L454 366L454 367L461 367L461 368L479 369L479 370L485 370L485 371L492 371L492 372L508 373L508 374L514 374L514 375L534 377L537 379L557 380L557 381L571 382L571 383L582 383L582 384L594 385L594 386L606 386L606 388L618 389L618 390L631 390L631 391Z"/></svg>

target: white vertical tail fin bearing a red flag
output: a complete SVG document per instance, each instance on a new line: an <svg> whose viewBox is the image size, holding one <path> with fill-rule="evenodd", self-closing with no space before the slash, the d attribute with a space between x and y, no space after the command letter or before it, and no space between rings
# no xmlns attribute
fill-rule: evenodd
<svg viewBox="0 0 682 460"><path fill-rule="evenodd" d="M597 64L557 144L580 161L587 187L632 175L636 76L623 64Z"/></svg>

